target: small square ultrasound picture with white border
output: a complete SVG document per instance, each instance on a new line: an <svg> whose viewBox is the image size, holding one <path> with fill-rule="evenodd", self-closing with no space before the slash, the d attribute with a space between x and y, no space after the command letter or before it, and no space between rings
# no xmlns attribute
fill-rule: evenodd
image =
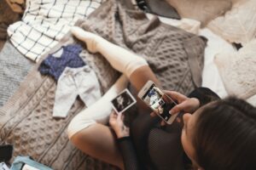
<svg viewBox="0 0 256 170"><path fill-rule="evenodd" d="M132 96L131 92L125 88L118 96L111 100L113 110L117 113L123 113L132 105L136 104L136 99Z"/></svg>

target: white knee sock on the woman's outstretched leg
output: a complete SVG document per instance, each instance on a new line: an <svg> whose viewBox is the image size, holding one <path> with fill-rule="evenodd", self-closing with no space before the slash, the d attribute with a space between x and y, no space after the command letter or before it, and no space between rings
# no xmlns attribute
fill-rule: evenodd
<svg viewBox="0 0 256 170"><path fill-rule="evenodd" d="M139 67L148 65L147 61L137 54L108 42L96 34L79 27L73 27L71 31L73 35L86 43L91 53L101 53L114 69L124 73L126 77L130 77L131 73Z"/></svg>

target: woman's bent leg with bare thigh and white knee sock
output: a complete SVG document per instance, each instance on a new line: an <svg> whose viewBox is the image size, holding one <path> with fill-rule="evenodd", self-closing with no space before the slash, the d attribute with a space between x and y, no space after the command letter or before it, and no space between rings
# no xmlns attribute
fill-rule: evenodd
<svg viewBox="0 0 256 170"><path fill-rule="evenodd" d="M122 156L115 143L111 129L105 126L112 111L110 100L127 87L125 75L109 88L108 92L95 104L79 112L67 127L69 139L84 153L102 161L123 168Z"/></svg>

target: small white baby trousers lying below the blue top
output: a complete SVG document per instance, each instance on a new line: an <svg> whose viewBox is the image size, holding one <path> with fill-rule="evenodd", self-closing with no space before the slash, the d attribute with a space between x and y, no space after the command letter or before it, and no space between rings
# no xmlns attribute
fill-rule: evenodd
<svg viewBox="0 0 256 170"><path fill-rule="evenodd" d="M86 106L101 98L96 73L88 65L80 68L66 67L63 71L57 83L53 116L66 117L78 95Z"/></svg>

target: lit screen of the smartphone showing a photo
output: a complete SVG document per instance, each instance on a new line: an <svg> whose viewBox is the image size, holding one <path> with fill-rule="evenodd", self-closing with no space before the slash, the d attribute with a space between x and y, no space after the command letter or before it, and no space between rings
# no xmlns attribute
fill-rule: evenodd
<svg viewBox="0 0 256 170"><path fill-rule="evenodd" d="M160 88L155 87L154 84L148 88L148 91L143 95L142 99L166 122L172 116L169 111L176 105L169 96L160 91Z"/></svg>

